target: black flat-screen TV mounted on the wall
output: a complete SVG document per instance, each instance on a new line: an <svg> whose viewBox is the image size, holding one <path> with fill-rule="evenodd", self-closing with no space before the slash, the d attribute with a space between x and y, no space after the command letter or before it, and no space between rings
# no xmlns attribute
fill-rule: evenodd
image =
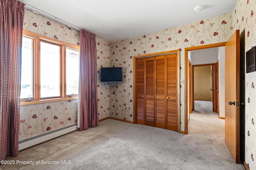
<svg viewBox="0 0 256 170"><path fill-rule="evenodd" d="M122 67L101 67L101 82L122 81Z"/></svg>

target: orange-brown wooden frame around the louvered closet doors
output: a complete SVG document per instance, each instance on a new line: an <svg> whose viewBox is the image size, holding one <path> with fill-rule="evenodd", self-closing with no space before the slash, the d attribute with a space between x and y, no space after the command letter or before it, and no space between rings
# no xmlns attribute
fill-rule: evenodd
<svg viewBox="0 0 256 170"><path fill-rule="evenodd" d="M178 65L178 68L180 67L180 49L176 49L176 50L171 50L171 51L164 51L164 52L159 52L159 53L150 53L150 54L145 54L145 55L136 55L134 56L134 86L133 86L133 97L134 97L134 100L133 100L133 123L137 123L136 122L136 59L137 58L143 58L143 57L153 57L153 56L160 56L160 55L167 55L167 54L172 54L172 53L177 53L177 65ZM180 70L178 69L177 71L177 85L179 86L180 85ZM177 91L177 96L178 96L178 103L180 103L180 88L178 88L178 91ZM178 133L180 133L180 106L178 105L178 112L177 112L177 117L178 117Z"/></svg>

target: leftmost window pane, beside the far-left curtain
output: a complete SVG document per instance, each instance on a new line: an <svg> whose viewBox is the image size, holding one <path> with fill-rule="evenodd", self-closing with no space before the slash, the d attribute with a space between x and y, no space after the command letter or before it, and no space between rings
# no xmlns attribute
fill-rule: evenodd
<svg viewBox="0 0 256 170"><path fill-rule="evenodd" d="M22 38L20 99L34 98L33 94L33 39Z"/></svg>

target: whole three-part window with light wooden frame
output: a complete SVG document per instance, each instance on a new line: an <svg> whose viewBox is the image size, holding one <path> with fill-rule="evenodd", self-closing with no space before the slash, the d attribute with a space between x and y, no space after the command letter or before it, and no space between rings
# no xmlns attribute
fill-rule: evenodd
<svg viewBox="0 0 256 170"><path fill-rule="evenodd" d="M79 47L23 31L20 100L76 99ZM73 98L70 98L73 97ZM24 102L23 105L31 104Z"/></svg>

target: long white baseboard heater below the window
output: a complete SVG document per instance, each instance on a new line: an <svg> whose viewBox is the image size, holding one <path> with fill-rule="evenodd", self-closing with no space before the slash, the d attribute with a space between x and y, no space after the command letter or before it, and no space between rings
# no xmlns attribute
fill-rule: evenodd
<svg viewBox="0 0 256 170"><path fill-rule="evenodd" d="M42 142L45 142L47 140L56 138L58 136L61 136L63 134L67 134L69 132L75 131L77 130L77 123L74 125L69 125L67 127L64 128L59 128L56 130L52 130L51 132L47 132L44 134L40 134L37 136L33 136L31 138L26 138L24 140L20 140L19 141L19 150L28 148L30 146L34 146L36 144L40 144Z"/></svg>

